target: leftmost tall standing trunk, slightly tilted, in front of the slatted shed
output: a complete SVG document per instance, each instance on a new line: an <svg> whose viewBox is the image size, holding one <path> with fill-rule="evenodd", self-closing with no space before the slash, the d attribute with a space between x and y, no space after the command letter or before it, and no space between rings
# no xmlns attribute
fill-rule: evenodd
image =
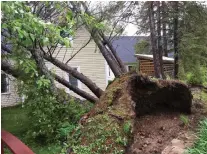
<svg viewBox="0 0 207 154"><path fill-rule="evenodd" d="M154 62L154 72L155 77L162 78L161 74L161 66L160 66L160 58L159 58L159 51L157 50L157 41L156 41L156 33L155 33L155 21L154 21L154 3L147 2L149 4L149 24L150 24L150 39L151 39L151 46L152 46L152 53L153 53L153 62Z"/></svg>

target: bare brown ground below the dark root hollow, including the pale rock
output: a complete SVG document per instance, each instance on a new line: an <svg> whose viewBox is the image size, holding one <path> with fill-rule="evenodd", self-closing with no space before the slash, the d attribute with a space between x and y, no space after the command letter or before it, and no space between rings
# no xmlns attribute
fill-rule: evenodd
<svg viewBox="0 0 207 154"><path fill-rule="evenodd" d="M199 93L198 89L192 89ZM162 110L137 117L134 125L134 140L127 154L184 154L196 139L195 130L200 119L206 117L205 102L196 98L192 101L192 113ZM173 144L173 142L176 142Z"/></svg>

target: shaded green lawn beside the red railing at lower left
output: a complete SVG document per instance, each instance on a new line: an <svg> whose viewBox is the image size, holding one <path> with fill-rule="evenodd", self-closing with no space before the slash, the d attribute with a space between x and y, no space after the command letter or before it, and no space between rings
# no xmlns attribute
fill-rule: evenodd
<svg viewBox="0 0 207 154"><path fill-rule="evenodd" d="M34 140L26 137L30 128L30 121L27 117L27 109L21 106L1 109L1 127L12 133L30 147L36 154L57 154L61 147L58 144L39 145Z"/></svg>

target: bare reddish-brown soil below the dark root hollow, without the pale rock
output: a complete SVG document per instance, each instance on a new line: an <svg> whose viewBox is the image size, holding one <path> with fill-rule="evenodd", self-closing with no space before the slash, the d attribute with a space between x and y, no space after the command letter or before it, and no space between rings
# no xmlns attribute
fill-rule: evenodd
<svg viewBox="0 0 207 154"><path fill-rule="evenodd" d="M185 125L179 112L155 112L137 117L134 127L133 144L127 154L161 154L175 138L182 138L181 134L195 131L201 118L207 115L203 108L204 102L193 100L192 113L186 115L189 123Z"/></svg>

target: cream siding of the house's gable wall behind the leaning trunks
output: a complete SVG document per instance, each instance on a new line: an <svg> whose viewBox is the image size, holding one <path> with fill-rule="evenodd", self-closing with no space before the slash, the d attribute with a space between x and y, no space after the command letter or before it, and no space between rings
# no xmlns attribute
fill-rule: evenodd
<svg viewBox="0 0 207 154"><path fill-rule="evenodd" d="M73 44L70 48L63 47L61 51L58 53L58 49L56 49L54 55L57 55L57 58L63 62L66 62L76 51L78 51L90 38L90 34L85 29L79 29L76 32L75 38L73 40ZM64 58L65 57L65 58ZM71 67L79 67L80 72L85 76L89 77L93 82L95 82L101 89L105 90L106 88L106 74L105 74L105 59L102 54L96 47L94 41L92 40L85 48L83 48L69 63ZM57 67L55 67L50 62L47 62L47 66L49 69L53 69L56 74L65 78L69 81L68 74ZM57 82L56 82L57 83ZM59 88L65 88L61 84L57 83ZM69 89L65 88L67 92L71 95L77 96ZM81 83L81 89L92 94L92 92ZM80 97L81 98L81 97Z"/></svg>

